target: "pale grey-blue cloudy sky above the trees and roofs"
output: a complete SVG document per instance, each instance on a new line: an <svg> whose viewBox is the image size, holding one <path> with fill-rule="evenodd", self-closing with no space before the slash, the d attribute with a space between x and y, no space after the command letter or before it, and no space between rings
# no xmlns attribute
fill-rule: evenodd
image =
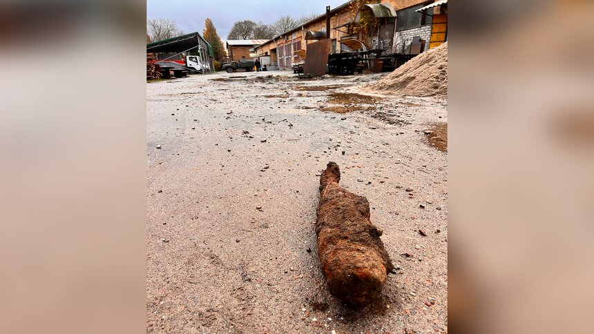
<svg viewBox="0 0 594 334"><path fill-rule="evenodd" d="M220 38L225 41L236 21L273 23L279 17L298 18L322 14L326 6L335 8L347 0L147 0L148 19L173 19L184 32L204 30L204 19L213 20Z"/></svg>

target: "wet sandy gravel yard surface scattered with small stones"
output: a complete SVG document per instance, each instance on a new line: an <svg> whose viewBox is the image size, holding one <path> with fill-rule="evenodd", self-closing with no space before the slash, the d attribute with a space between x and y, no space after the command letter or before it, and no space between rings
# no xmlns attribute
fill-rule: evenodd
<svg viewBox="0 0 594 334"><path fill-rule="evenodd" d="M447 106L349 93L379 77L147 84L148 332L447 331L447 153L425 134L443 128ZM314 221L328 161L369 199L397 266L363 310L329 295L320 271Z"/></svg>

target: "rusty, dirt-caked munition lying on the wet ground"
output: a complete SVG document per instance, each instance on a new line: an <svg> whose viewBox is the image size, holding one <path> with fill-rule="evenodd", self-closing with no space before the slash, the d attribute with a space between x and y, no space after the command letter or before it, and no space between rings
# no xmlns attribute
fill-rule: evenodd
<svg viewBox="0 0 594 334"><path fill-rule="evenodd" d="M369 202L338 186L340 179L334 162L320 177L318 255L330 293L361 307L379 297L394 265L381 242L382 231L370 222Z"/></svg>

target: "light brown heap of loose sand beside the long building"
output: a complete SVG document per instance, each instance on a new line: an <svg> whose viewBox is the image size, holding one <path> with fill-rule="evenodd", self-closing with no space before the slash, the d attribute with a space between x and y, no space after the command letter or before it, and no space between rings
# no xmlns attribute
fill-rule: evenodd
<svg viewBox="0 0 594 334"><path fill-rule="evenodd" d="M448 43L410 59L380 81L363 86L363 90L448 99Z"/></svg>

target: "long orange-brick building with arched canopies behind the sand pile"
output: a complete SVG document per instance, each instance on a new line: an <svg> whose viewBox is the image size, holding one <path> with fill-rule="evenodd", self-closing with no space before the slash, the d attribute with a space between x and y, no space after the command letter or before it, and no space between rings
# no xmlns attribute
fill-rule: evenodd
<svg viewBox="0 0 594 334"><path fill-rule="evenodd" d="M448 0L352 0L330 11L331 52L385 50L387 54L409 54L415 37L424 49L447 40ZM321 8L320 8L321 9ZM270 56L273 65L290 68L294 52L307 50L316 36L325 34L326 15L303 23L253 48L259 57ZM305 39L307 32L314 39Z"/></svg>

